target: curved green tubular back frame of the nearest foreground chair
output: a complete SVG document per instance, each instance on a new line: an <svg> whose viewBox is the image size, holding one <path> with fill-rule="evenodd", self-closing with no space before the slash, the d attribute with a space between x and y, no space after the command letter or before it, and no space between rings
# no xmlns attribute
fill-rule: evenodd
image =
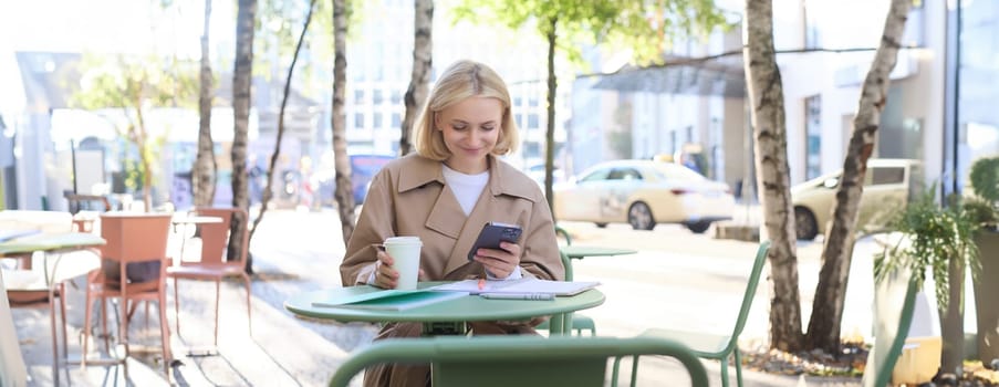
<svg viewBox="0 0 999 387"><path fill-rule="evenodd" d="M346 386L384 363L429 364L435 387L603 386L607 359L665 355L678 359L693 386L708 386L704 365L683 344L651 337L438 336L375 342L341 364L330 386Z"/></svg>

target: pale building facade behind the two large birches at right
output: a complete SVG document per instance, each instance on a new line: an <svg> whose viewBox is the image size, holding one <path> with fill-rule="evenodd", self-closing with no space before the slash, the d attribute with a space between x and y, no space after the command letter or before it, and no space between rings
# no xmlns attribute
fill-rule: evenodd
<svg viewBox="0 0 999 387"><path fill-rule="evenodd" d="M792 184L842 168L887 6L866 0L774 0ZM738 8L730 11L741 13ZM674 65L622 69L595 83L604 91L591 92L610 90L624 96L605 97L610 106L586 111L631 114L629 126L618 129L632 134L634 147L627 157L677 155L693 145L707 159L700 171L738 191L740 181L753 176L745 84L735 80L745 80L745 74L732 74L728 82L743 93L705 92L704 84L705 73L717 75L710 70L724 57L736 60L731 67L741 66L740 36L737 28L717 32L707 42L677 44L667 53L667 63ZM991 107L999 93L995 36L999 36L996 2L915 1L891 74L873 157L923 160L925 181L940 184L945 192L962 190L970 164L999 153L999 111ZM584 88L593 84L577 83L573 97L585 98ZM573 130L586 125L573 119ZM612 133L602 137L613 138L613 130L607 132Z"/></svg>

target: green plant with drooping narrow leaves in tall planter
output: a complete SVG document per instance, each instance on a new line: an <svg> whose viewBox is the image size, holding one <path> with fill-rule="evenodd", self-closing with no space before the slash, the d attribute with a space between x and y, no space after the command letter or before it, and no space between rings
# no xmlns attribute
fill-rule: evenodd
<svg viewBox="0 0 999 387"><path fill-rule="evenodd" d="M940 206L935 189L909 202L892 222L902 238L875 257L875 280L887 273L907 268L920 286L927 272L933 273L937 310L940 318L943 351L940 368L944 374L960 375L964 359L964 292L965 271L979 270L975 231L978 223L971 219L957 197L949 205Z"/></svg>

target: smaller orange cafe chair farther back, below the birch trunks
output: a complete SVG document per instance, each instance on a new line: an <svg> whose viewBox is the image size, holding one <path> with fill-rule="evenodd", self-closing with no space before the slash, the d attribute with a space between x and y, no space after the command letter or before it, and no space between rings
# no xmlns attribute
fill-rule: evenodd
<svg viewBox="0 0 999 387"><path fill-rule="evenodd" d="M219 344L219 294L220 283L222 279L237 276L241 278L247 286L247 324L252 332L252 323L250 323L250 275L247 274L247 253L250 250L249 240L250 231L248 227L249 216L246 210L238 208L200 208L196 211L201 217L219 217L222 219L220 223L199 224L201 234L201 260L196 262L180 262L180 265L167 268L167 276L174 279L174 308L177 315L177 334L180 334L180 297L178 296L177 280L199 280L215 281L215 346ZM240 217L243 220L243 228L238 233L241 240L242 249L239 259L236 261L227 261L227 247L229 239L232 238L230 227L232 218Z"/></svg>

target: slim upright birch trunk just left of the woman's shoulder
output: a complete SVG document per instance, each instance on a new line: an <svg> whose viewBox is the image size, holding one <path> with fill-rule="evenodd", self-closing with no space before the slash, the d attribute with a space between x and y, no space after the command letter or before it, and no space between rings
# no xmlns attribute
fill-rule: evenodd
<svg viewBox="0 0 999 387"><path fill-rule="evenodd" d="M336 170L336 209L346 245L354 233L354 194L351 184L351 159L347 156L344 95L347 85L347 0L333 0L333 168Z"/></svg>

